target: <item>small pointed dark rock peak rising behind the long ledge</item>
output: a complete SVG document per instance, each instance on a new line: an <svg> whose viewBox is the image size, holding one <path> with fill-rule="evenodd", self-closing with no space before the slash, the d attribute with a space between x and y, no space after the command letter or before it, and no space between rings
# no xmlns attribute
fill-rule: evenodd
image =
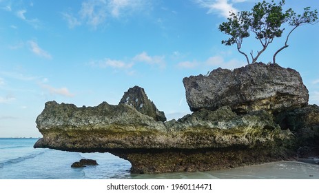
<svg viewBox="0 0 319 193"><path fill-rule="evenodd" d="M132 105L138 112L154 118L155 121L166 121L163 111L159 111L154 103L147 98L143 88L134 86L124 93L119 104Z"/></svg>

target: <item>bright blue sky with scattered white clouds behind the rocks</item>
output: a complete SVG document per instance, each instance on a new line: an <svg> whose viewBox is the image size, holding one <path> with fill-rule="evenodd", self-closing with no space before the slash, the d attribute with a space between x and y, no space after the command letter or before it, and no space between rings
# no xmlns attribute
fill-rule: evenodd
<svg viewBox="0 0 319 193"><path fill-rule="evenodd" d="M0 0L0 137L40 137L47 101L116 105L141 86L167 119L189 114L183 78L246 65L218 30L230 10L256 0ZM318 0L287 0L302 12ZM287 26L284 37L291 26ZM276 62L300 72L309 103L319 104L319 23L297 28ZM258 61L285 42L274 39ZM254 36L243 51L260 50Z"/></svg>

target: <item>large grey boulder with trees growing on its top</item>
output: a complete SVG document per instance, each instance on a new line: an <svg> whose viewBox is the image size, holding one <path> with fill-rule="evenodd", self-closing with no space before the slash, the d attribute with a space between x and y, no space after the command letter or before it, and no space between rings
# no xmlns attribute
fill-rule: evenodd
<svg viewBox="0 0 319 193"><path fill-rule="evenodd" d="M190 110L216 110L229 105L235 112L281 112L305 107L309 94L300 74L290 68L263 63L234 70L218 68L184 78Z"/></svg>

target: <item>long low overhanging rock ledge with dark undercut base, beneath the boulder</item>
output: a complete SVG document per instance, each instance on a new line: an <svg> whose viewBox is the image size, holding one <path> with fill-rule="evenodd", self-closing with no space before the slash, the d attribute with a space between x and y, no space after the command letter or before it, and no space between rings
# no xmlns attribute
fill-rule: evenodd
<svg viewBox="0 0 319 193"><path fill-rule="evenodd" d="M165 123L132 105L76 108L45 103L37 117L43 138L34 148L110 152L132 163L132 172L204 171L285 159L294 141L261 110L237 115L229 107L199 110Z"/></svg>

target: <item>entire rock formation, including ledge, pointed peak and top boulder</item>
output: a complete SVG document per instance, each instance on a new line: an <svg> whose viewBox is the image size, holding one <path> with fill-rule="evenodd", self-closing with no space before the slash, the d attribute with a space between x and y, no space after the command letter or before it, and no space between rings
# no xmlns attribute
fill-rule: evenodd
<svg viewBox="0 0 319 193"><path fill-rule="evenodd" d="M137 86L119 105L47 102L36 121L43 138L34 148L110 152L130 161L131 172L144 173L289 159L299 146L305 152L318 144L319 108L305 107L308 91L296 70L263 64L218 68L183 82L195 112L177 121L163 122L164 113Z"/></svg>

